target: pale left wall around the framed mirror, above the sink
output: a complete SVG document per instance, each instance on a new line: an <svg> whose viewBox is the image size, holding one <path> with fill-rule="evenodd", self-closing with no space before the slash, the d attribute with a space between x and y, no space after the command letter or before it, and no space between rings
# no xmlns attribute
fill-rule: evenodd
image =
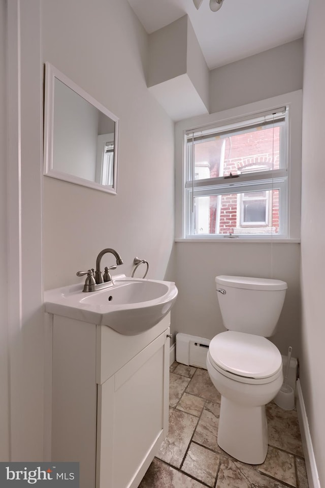
<svg viewBox="0 0 325 488"><path fill-rule="evenodd" d="M117 196L44 177L45 289L78 281L106 247L123 258L117 272L130 276L139 256L149 278L163 279L174 235L174 124L146 86L148 36L126 0L44 0L42 15L43 61L120 118Z"/></svg>

